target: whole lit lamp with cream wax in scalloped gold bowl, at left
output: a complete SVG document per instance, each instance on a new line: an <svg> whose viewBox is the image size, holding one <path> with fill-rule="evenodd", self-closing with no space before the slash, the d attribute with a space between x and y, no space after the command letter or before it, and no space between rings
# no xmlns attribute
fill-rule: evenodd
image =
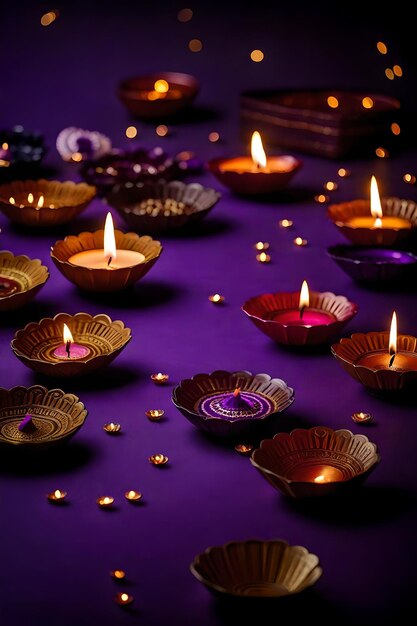
<svg viewBox="0 0 417 626"><path fill-rule="evenodd" d="M111 213L107 213L104 232L83 232L57 241L51 258L81 289L119 291L142 278L161 252L161 243L148 235L115 231Z"/></svg>

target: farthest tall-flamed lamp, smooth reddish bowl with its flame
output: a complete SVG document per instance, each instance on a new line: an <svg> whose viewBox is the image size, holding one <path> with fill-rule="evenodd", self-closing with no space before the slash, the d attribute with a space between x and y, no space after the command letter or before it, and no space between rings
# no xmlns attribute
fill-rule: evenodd
<svg viewBox="0 0 417 626"><path fill-rule="evenodd" d="M262 138L255 131L251 156L212 159L208 169L233 192L261 195L280 191L301 168L302 162L289 154L266 156Z"/></svg>

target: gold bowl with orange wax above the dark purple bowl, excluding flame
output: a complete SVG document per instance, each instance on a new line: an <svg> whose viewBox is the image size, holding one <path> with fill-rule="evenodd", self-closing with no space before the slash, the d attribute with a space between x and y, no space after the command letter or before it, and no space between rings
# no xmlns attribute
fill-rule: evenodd
<svg viewBox="0 0 417 626"><path fill-rule="evenodd" d="M352 243L359 246L398 246L404 242L415 242L417 235L417 204L400 198L381 198L383 220L386 226L375 228L361 225L363 219L375 221L369 200L351 200L331 204L327 216L337 229Z"/></svg>

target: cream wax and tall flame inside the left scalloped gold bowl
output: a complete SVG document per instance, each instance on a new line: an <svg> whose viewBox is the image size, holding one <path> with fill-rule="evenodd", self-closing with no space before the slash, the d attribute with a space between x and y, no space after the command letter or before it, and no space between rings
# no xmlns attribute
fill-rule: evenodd
<svg viewBox="0 0 417 626"><path fill-rule="evenodd" d="M135 250L117 250L113 218L107 213L103 249L83 250L69 257L68 262L89 269L117 270L145 262L145 256Z"/></svg>

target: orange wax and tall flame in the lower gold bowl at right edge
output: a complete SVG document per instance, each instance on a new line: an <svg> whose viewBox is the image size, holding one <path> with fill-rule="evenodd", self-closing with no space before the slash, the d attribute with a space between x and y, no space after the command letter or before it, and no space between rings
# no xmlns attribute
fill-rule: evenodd
<svg viewBox="0 0 417 626"><path fill-rule="evenodd" d="M373 370L396 372L417 371L417 353L397 350L397 314L392 314L388 350L372 350L362 355L356 365L364 365Z"/></svg>

